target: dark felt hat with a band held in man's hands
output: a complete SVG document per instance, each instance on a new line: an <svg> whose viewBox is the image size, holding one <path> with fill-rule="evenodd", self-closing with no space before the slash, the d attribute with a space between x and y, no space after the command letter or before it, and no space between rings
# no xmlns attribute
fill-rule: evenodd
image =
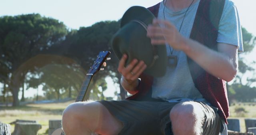
<svg viewBox="0 0 256 135"><path fill-rule="evenodd" d="M166 72L167 54L165 45L153 46L146 36L148 24L152 24L154 15L141 6L132 6L123 15L121 28L112 38L112 48L120 59L128 55L126 65L134 58L143 60L147 65L144 73L154 77Z"/></svg>

